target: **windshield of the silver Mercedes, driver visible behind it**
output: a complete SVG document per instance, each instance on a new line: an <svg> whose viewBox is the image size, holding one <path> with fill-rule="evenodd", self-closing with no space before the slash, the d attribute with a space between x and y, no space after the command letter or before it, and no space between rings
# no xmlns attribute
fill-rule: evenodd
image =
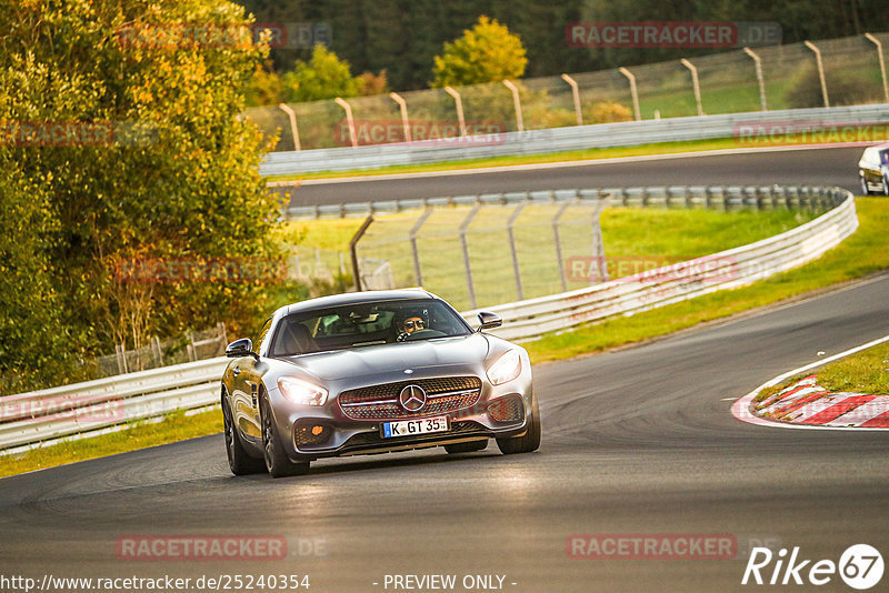
<svg viewBox="0 0 889 593"><path fill-rule="evenodd" d="M274 332L271 355L292 356L470 333L462 318L433 299L347 304L283 318Z"/></svg>

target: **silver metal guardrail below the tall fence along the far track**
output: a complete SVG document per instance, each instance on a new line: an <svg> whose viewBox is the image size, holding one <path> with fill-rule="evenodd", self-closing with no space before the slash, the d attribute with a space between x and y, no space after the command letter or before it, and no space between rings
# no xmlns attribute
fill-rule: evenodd
<svg viewBox="0 0 889 593"><path fill-rule="evenodd" d="M269 177L318 171L349 171L398 164L630 147L652 142L735 138L738 135L738 127L742 124L792 123L836 127L838 124L869 124L886 121L889 121L889 103L625 121L507 132L492 137L451 138L437 143L430 141L401 142L272 152L260 164L259 172L262 177ZM741 143L742 141L739 140L739 145Z"/></svg>

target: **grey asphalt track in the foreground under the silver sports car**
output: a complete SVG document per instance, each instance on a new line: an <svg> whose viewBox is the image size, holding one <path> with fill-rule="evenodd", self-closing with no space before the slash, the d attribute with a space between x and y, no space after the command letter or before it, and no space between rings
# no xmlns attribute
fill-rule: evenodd
<svg viewBox="0 0 889 593"><path fill-rule="evenodd" d="M781 162L832 153L811 163L808 181L855 187L858 152L788 153ZM838 154L846 162L833 170L842 174L828 179L827 162ZM732 177L741 171L756 178L761 158L745 159L732 160L728 179L746 182ZM672 167L715 178L709 168L725 162ZM645 184L660 182L657 171L638 169ZM805 181L803 168L791 172L770 169L761 181ZM758 543L776 554L798 546L798 560L811 566L838 563L847 547L867 543L886 557L889 432L756 426L730 408L819 352L887 333L889 274L638 348L538 365L543 443L533 454L503 456L491 444L460 456L436 449L320 461L297 478L234 478L219 434L7 478L0 574L38 584L48 574L192 583L308 574L311 592L850 591L838 574L819 587L742 586L745 556ZM727 536L735 557L570 557L575 534ZM287 546L283 559L264 561L121 553L121 541L152 535L282 537ZM762 569L765 580L775 566ZM407 587L419 583L407 576L433 574L455 575L456 586Z"/></svg>

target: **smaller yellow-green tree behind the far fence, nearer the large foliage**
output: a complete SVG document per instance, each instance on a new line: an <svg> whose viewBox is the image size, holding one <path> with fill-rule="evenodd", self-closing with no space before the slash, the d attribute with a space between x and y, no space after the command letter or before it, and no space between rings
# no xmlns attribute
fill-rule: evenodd
<svg viewBox="0 0 889 593"><path fill-rule="evenodd" d="M287 72L284 100L288 102L318 101L336 97L358 97L359 82L349 72L349 62L322 44L317 44L309 62L297 62L296 69Z"/></svg>

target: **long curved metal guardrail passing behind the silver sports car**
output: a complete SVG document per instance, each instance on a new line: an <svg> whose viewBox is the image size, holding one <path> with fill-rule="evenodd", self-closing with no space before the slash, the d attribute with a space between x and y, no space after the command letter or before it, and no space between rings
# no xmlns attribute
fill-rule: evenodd
<svg viewBox="0 0 889 593"><path fill-rule="evenodd" d="M505 321L495 333L531 339L737 288L815 260L855 232L858 218L847 190L810 188L807 193L838 205L801 227L749 245L580 290L487 308ZM462 314L476 322L477 312ZM217 358L2 398L0 450L13 452L216 404L226 364L224 358Z"/></svg>

